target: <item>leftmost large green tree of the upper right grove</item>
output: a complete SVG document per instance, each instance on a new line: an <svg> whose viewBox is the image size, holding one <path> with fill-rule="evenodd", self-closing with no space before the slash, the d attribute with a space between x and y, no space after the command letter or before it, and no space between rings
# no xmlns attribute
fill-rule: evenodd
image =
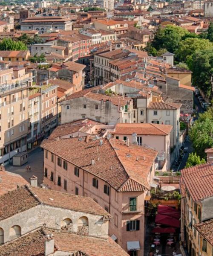
<svg viewBox="0 0 213 256"><path fill-rule="evenodd" d="M159 27L155 32L152 47L157 50L165 48L173 53L178 49L180 41L187 34L190 34L190 32L179 26L167 25L165 28Z"/></svg>

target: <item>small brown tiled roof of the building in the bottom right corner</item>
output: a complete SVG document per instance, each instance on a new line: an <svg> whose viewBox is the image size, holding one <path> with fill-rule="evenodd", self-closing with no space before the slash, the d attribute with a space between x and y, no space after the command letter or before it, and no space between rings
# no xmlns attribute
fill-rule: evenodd
<svg viewBox="0 0 213 256"><path fill-rule="evenodd" d="M196 230L213 246L213 219L194 225Z"/></svg>

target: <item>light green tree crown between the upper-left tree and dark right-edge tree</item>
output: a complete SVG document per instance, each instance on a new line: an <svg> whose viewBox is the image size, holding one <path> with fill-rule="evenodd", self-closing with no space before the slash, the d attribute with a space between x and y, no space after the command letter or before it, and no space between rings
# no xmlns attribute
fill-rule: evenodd
<svg viewBox="0 0 213 256"><path fill-rule="evenodd" d="M195 51L210 49L213 44L206 40L200 38L186 38L179 43L179 47L176 50L176 57L179 61L186 62L192 61L191 57Z"/></svg>

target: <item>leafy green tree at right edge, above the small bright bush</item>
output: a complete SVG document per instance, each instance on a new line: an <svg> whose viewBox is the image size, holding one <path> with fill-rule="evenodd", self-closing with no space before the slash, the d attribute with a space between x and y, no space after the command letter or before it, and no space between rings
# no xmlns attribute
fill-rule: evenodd
<svg viewBox="0 0 213 256"><path fill-rule="evenodd" d="M200 157L204 157L206 148L213 147L213 108L200 114L190 130L190 139L193 148Z"/></svg>

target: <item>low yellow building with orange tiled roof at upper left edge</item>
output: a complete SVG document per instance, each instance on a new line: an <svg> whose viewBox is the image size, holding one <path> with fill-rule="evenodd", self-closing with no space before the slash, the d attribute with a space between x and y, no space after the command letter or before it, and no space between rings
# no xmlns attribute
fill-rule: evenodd
<svg viewBox="0 0 213 256"><path fill-rule="evenodd" d="M26 61L30 56L29 50L25 51L0 51L3 61Z"/></svg>

